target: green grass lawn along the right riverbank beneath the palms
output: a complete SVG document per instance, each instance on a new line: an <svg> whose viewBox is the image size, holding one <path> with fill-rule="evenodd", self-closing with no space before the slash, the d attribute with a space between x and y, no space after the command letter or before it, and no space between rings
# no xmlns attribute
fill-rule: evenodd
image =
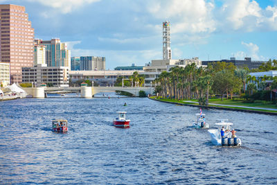
<svg viewBox="0 0 277 185"><path fill-rule="evenodd" d="M164 102L170 102L170 103L179 103L182 105L199 105L198 100L174 100L174 99L167 99L167 98L158 98L158 97L151 97L152 99L157 99ZM186 102L190 101L190 102ZM192 101L192 102L191 102ZM215 104L221 104L221 105L208 105L203 107L220 107L220 108L226 108L226 109L233 109L233 110L250 110L255 112L269 112L269 113L277 113L275 110L265 110L265 109L257 109L257 108L271 108L271 109L277 109L276 105L269 105L265 103L243 103L244 100L237 99L237 100L226 100L224 99L221 101L220 98L212 98L209 100L209 103L215 103ZM227 107L224 105L232 105L232 107ZM245 107L236 107L236 106L245 106ZM251 107L255 107L256 109L251 109Z"/></svg>

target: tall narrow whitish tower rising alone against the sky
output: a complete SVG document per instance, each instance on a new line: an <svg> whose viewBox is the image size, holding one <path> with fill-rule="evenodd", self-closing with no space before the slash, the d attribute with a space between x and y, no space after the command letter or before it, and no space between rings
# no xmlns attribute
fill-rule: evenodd
<svg viewBox="0 0 277 185"><path fill-rule="evenodd" d="M163 60L171 59L170 22L163 22Z"/></svg>

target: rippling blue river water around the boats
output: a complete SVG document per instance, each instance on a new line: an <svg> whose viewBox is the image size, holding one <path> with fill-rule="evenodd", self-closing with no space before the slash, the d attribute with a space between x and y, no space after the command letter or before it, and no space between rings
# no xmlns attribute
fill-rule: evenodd
<svg viewBox="0 0 277 185"><path fill-rule="evenodd" d="M0 108L0 184L277 184L277 116L203 109L212 126L234 123L242 146L228 148L190 127L198 108L148 98L25 98ZM127 111L129 129L111 125L117 111ZM54 118L69 132L52 132Z"/></svg>

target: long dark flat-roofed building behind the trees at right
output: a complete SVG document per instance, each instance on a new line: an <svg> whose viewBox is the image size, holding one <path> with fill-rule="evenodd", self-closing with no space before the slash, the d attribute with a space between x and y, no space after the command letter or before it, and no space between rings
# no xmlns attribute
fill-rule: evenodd
<svg viewBox="0 0 277 185"><path fill-rule="evenodd" d="M227 62L227 63L233 63L236 67L248 67L249 69L257 69L260 67L262 63L265 63L267 61L252 61L251 58L244 58L244 60L236 60L235 58L230 58L230 60L208 60L208 61L202 61L202 64L208 65L213 64L213 62Z"/></svg>

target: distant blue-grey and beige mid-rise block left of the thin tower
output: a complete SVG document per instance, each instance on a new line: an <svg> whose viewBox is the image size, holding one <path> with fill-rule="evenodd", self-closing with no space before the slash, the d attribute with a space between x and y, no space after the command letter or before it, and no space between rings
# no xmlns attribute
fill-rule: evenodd
<svg viewBox="0 0 277 185"><path fill-rule="evenodd" d="M105 57L81 56L80 70L81 71L101 71L106 69Z"/></svg>

